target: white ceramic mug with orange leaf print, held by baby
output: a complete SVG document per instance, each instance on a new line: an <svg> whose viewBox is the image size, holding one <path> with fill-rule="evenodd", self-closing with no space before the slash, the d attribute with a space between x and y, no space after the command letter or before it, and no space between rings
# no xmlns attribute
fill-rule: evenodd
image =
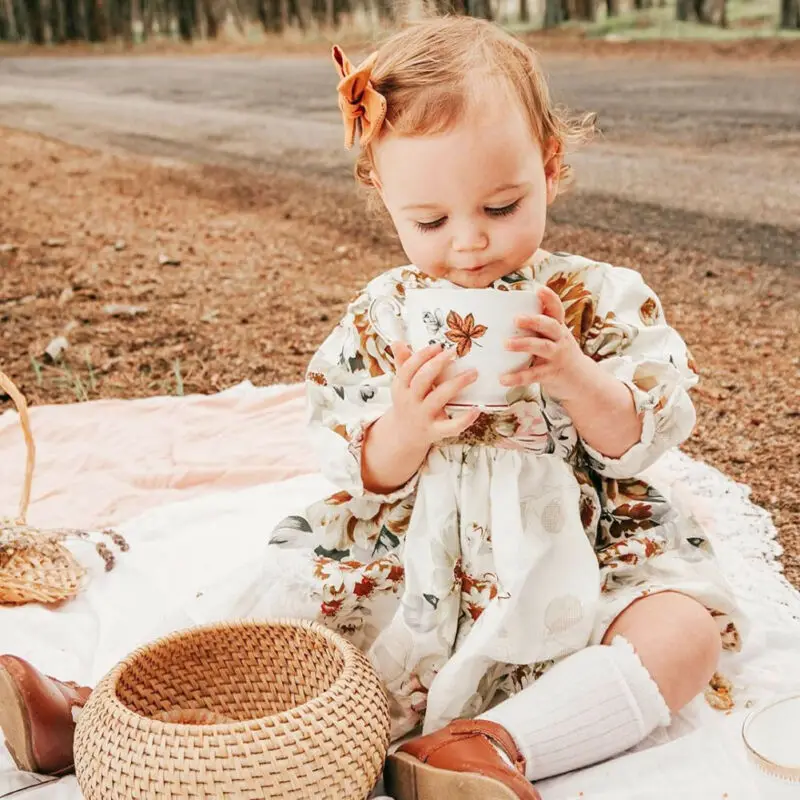
<svg viewBox="0 0 800 800"><path fill-rule="evenodd" d="M499 289L406 290L405 304L393 297L378 297L369 307L369 320L388 342L404 341L413 351L429 344L454 348L459 358L444 373L451 378L468 369L478 377L450 406L504 408L509 387L500 383L506 372L519 369L530 355L506 349L506 341L520 330L519 316L538 314L539 298L531 291Z"/></svg>

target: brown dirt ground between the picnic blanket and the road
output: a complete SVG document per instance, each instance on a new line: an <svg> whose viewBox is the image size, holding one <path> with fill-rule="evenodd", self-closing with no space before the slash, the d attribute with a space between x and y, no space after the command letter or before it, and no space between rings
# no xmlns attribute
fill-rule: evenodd
<svg viewBox="0 0 800 800"><path fill-rule="evenodd" d="M0 364L34 403L300 380L355 290L403 261L338 179L0 141ZM800 586L800 276L662 241L555 223L545 245L660 294L703 377L685 449L753 487Z"/></svg>

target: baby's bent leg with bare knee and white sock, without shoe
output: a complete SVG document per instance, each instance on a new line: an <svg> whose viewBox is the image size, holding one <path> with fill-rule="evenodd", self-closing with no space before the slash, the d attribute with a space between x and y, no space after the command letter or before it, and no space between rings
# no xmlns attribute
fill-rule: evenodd
<svg viewBox="0 0 800 800"><path fill-rule="evenodd" d="M675 592L633 603L603 642L482 715L512 735L528 780L603 761L669 724L708 683L720 652L711 615Z"/></svg>

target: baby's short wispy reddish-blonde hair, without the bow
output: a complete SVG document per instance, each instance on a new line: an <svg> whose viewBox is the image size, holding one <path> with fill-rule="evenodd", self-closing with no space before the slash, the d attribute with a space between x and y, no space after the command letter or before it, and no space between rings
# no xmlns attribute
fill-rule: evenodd
<svg viewBox="0 0 800 800"><path fill-rule="evenodd" d="M482 19L446 16L411 23L378 48L371 80L387 101L386 129L401 136L452 129L474 104L487 102L483 93L498 86L520 103L542 147L555 140L563 154L595 130L594 114L573 118L553 105L531 48ZM356 179L364 186L373 185L372 146L362 147L356 162ZM559 188L571 178L562 159Z"/></svg>

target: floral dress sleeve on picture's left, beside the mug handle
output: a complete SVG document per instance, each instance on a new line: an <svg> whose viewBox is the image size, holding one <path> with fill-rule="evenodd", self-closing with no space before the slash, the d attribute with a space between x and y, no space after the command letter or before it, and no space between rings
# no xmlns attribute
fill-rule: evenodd
<svg viewBox="0 0 800 800"><path fill-rule="evenodd" d="M369 322L379 293L395 293L388 276L373 281L348 307L306 373L311 438L324 475L352 497L393 502L413 491L417 476L390 495L364 489L361 452L369 426L391 406L394 357Z"/></svg>

